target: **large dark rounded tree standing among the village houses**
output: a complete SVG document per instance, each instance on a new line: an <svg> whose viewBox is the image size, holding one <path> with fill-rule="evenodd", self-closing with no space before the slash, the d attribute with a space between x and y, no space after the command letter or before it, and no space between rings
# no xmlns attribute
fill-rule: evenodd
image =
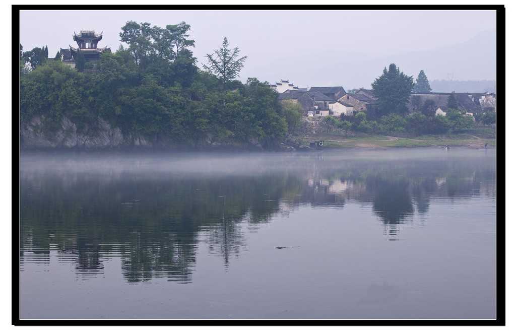
<svg viewBox="0 0 516 335"><path fill-rule="evenodd" d="M376 78L371 86L378 98L380 115L407 113L407 103L414 87L412 76L400 72L396 64L392 63L389 70L383 69L383 74Z"/></svg>

